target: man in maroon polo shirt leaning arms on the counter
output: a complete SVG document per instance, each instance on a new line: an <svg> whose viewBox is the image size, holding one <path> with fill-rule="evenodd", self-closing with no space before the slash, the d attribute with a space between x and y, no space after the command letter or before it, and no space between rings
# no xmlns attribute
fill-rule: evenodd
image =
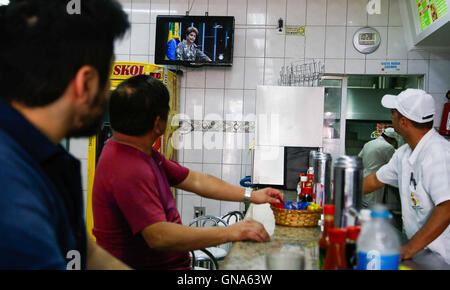
<svg viewBox="0 0 450 290"><path fill-rule="evenodd" d="M280 202L280 191L246 192L195 172L152 148L166 129L169 92L158 80L135 76L112 93L113 137L100 156L93 190L97 243L136 269L189 269L189 251L226 242L264 242L264 226L244 220L228 227L184 226L170 186L218 200Z"/></svg>

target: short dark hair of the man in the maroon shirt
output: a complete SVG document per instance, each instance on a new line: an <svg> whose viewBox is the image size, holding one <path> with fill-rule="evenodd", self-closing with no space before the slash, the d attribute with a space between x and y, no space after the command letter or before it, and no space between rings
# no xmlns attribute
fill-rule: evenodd
<svg viewBox="0 0 450 290"><path fill-rule="evenodd" d="M159 80L138 75L123 81L109 99L109 121L113 130L141 136L153 129L156 117L167 121L169 91Z"/></svg>

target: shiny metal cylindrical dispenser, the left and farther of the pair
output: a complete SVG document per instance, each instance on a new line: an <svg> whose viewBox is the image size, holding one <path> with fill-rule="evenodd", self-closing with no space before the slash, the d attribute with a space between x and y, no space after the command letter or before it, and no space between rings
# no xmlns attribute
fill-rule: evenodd
<svg viewBox="0 0 450 290"><path fill-rule="evenodd" d="M314 151L312 159L316 203L323 208L325 204L332 204L333 200L331 196L331 154Z"/></svg>

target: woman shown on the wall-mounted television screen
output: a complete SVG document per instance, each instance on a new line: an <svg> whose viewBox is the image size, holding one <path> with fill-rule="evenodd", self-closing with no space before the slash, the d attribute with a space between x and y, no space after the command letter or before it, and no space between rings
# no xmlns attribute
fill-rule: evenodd
<svg viewBox="0 0 450 290"><path fill-rule="evenodd" d="M177 60L192 62L210 62L211 59L197 48L194 43L198 36L198 29L191 26L186 29L186 39L176 48Z"/></svg>

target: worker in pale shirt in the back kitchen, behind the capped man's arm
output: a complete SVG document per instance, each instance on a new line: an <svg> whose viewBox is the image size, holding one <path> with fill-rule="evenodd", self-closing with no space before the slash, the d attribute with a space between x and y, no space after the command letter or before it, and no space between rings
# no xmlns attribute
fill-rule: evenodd
<svg viewBox="0 0 450 290"><path fill-rule="evenodd" d="M386 128L381 135L366 144L359 152L364 165L364 177L377 172L381 166L391 160L397 148L397 140L393 128ZM384 186L363 196L363 207L370 207L383 202Z"/></svg>

